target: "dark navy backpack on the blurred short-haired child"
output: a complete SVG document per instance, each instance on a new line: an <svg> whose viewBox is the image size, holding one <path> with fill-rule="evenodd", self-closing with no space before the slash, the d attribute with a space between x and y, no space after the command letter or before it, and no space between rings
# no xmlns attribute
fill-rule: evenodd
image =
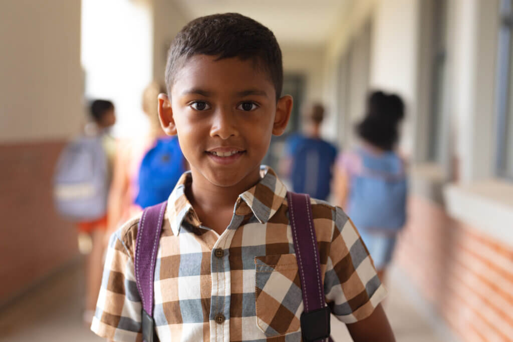
<svg viewBox="0 0 513 342"><path fill-rule="evenodd" d="M325 200L336 154L336 149L323 140L301 139L292 153L290 177L294 191Z"/></svg>

